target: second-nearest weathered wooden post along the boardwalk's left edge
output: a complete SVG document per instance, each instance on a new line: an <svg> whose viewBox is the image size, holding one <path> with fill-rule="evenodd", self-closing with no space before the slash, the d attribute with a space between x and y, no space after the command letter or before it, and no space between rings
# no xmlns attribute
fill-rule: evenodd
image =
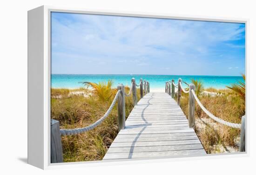
<svg viewBox="0 0 256 175"><path fill-rule="evenodd" d="M124 95L124 85L119 84L117 86L118 90L121 90L118 96L118 131L125 128L125 95Z"/></svg>

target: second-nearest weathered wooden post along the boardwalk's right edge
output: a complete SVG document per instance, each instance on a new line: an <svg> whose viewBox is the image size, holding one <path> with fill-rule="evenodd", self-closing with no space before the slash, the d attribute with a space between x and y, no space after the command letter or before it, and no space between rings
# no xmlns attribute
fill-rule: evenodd
<svg viewBox="0 0 256 175"><path fill-rule="evenodd" d="M195 97L192 89L195 91L195 85L189 84L189 128L195 127Z"/></svg>

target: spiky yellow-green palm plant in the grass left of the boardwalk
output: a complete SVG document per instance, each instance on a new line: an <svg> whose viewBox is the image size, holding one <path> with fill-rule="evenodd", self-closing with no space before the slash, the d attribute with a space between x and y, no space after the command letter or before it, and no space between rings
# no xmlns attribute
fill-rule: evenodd
<svg viewBox="0 0 256 175"><path fill-rule="evenodd" d="M108 80L108 83L106 82L99 82L92 83L92 82L81 82L82 84L86 85L87 87L92 87L94 93L103 101L109 100L109 98L112 95L111 87L113 85L112 80Z"/></svg>

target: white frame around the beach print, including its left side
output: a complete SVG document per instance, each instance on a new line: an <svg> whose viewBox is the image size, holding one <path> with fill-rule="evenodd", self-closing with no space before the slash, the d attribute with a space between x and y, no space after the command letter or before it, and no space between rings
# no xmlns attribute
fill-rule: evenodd
<svg viewBox="0 0 256 175"><path fill-rule="evenodd" d="M40 169L62 168L63 166L116 165L136 162L176 161L179 159L209 159L226 156L249 156L249 144L246 139L246 152L234 154L217 154L200 157L166 157L165 159L136 159L116 161L89 161L72 163L50 163L50 76L51 76L51 12L104 14L134 17L152 17L166 19L188 19L204 21L221 21L245 23L246 34L246 75L248 73L248 25L249 19L230 19L202 17L193 15L170 15L162 13L124 12L124 11L90 11L87 9L40 6L28 11L28 163ZM246 80L246 84L248 85ZM249 85L247 86L249 87ZM248 111L249 88L246 89L246 112ZM246 134L249 138L249 114L247 112ZM96 163L96 164L95 164Z"/></svg>

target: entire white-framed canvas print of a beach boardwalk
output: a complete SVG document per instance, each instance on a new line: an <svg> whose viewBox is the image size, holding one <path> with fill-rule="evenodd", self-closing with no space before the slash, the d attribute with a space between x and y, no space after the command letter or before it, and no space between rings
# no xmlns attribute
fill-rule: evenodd
<svg viewBox="0 0 256 175"><path fill-rule="evenodd" d="M28 163L247 155L247 25L28 11Z"/></svg>

